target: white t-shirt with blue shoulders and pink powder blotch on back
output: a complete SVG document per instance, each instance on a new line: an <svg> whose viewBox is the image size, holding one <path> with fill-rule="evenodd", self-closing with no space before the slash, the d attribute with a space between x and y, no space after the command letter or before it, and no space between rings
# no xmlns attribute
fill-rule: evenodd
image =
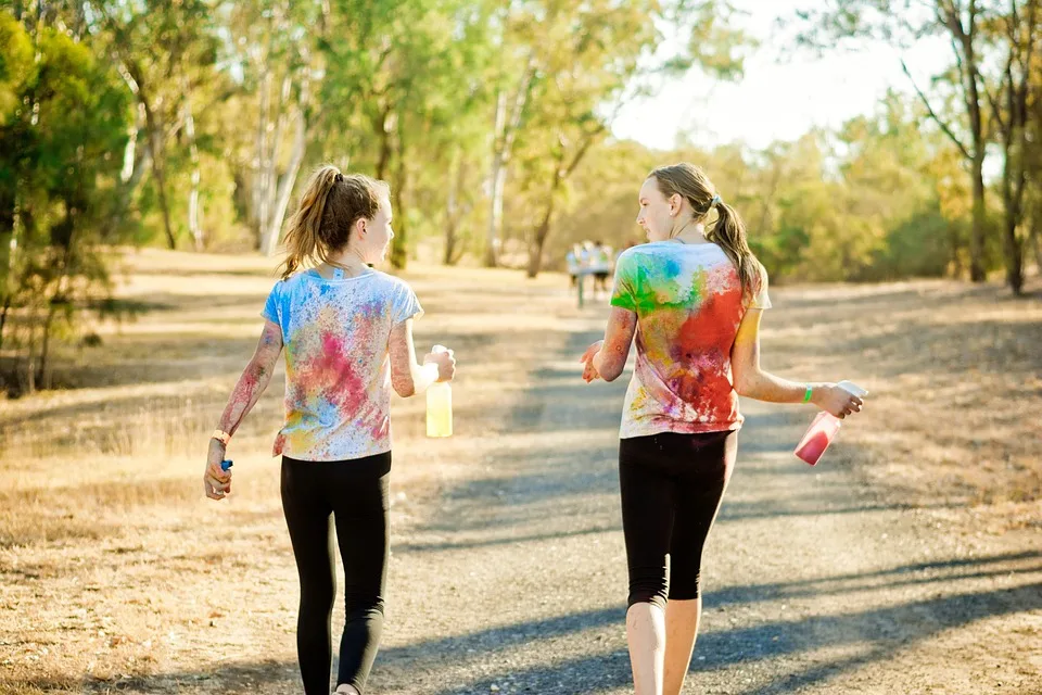
<svg viewBox="0 0 1042 695"><path fill-rule="evenodd" d="M279 281L262 316L285 348L285 425L272 455L342 460L391 451L391 329L421 315L412 289L370 270Z"/></svg>

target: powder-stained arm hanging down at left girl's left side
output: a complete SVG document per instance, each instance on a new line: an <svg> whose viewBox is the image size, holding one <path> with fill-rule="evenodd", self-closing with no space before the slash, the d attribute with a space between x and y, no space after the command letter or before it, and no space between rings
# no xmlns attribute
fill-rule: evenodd
<svg viewBox="0 0 1042 695"><path fill-rule="evenodd" d="M257 350L242 376L239 377L236 388L228 399L228 405L220 416L217 429L234 434L246 414L260 400L264 390L271 381L275 366L282 354L282 329L274 321L265 321L260 332ZM231 490L231 475L220 470L220 462L225 458L226 445L217 439L209 440L209 453L206 457L206 472L203 476L206 496L221 500L224 493Z"/></svg>

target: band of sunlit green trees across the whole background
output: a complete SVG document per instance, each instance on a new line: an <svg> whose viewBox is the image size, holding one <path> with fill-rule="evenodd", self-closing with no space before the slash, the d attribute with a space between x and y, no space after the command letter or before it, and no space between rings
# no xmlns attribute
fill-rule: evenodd
<svg viewBox="0 0 1042 695"><path fill-rule="evenodd" d="M917 4L817 3L801 39L828 50L954 30ZM1008 93L992 73L1016 31L1003 8L977 7L963 26L990 41L975 68L983 102ZM325 162L390 182L397 267L420 253L495 261L503 241L534 274L577 241L643 241L641 179L682 160L741 213L778 281L979 275L1008 255L1011 197L973 181L975 148L1012 122L1001 104L968 108L958 49L926 97L888 94L835 132L655 152L611 138L618 108L688 70L740 78L754 41L732 2L102 0L21 18L0 12L0 349L40 376L49 338L72 339L76 308L104 305L102 244L271 251ZM1006 128L989 156L1034 182L1031 85L1027 135ZM1042 227L1038 191L1026 188L1017 239Z"/></svg>

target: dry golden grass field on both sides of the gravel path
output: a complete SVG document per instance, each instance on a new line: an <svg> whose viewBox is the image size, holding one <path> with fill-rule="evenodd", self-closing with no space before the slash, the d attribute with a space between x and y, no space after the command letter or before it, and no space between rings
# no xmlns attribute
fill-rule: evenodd
<svg viewBox="0 0 1042 695"><path fill-rule="evenodd" d="M208 433L259 334L274 264L160 251L124 264L117 294L142 309L138 318L97 327L100 346L60 354L63 388L0 400L3 693L104 692L243 654L293 658L296 596L287 587L296 578L268 455L281 371L233 443L232 497L207 502L200 481ZM423 437L421 400L394 402L402 527L467 475L483 439L523 452L524 437L501 414L525 407L524 390L539 378L528 367L543 355L541 331L590 330L605 316L600 306L577 309L555 274L529 281L417 266L405 277L428 312L418 348L444 341L460 372L450 440ZM778 287L764 366L871 391L841 433L836 465L889 503L968 515L981 534L1042 538L1039 285L1021 300L999 285L954 281ZM242 596L245 611L229 598ZM206 691L206 677L196 678L192 687ZM241 673L236 692L254 678Z"/></svg>

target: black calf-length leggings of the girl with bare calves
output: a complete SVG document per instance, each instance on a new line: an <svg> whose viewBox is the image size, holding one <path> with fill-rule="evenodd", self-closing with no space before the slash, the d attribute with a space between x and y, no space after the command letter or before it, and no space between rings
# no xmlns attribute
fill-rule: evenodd
<svg viewBox="0 0 1042 695"><path fill-rule="evenodd" d="M650 603L665 608L668 597L698 597L702 547L737 451L737 431L666 432L620 441L630 606Z"/></svg>

